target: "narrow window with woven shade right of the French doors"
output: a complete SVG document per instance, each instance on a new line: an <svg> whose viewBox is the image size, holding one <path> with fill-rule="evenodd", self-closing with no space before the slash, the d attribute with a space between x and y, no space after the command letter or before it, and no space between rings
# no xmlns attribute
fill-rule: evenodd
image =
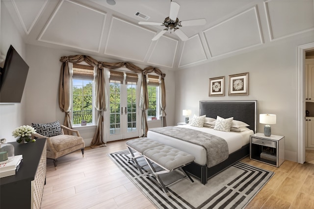
<svg viewBox="0 0 314 209"><path fill-rule="evenodd" d="M148 110L147 110L147 120L157 120L159 119L159 76L148 75Z"/></svg>

